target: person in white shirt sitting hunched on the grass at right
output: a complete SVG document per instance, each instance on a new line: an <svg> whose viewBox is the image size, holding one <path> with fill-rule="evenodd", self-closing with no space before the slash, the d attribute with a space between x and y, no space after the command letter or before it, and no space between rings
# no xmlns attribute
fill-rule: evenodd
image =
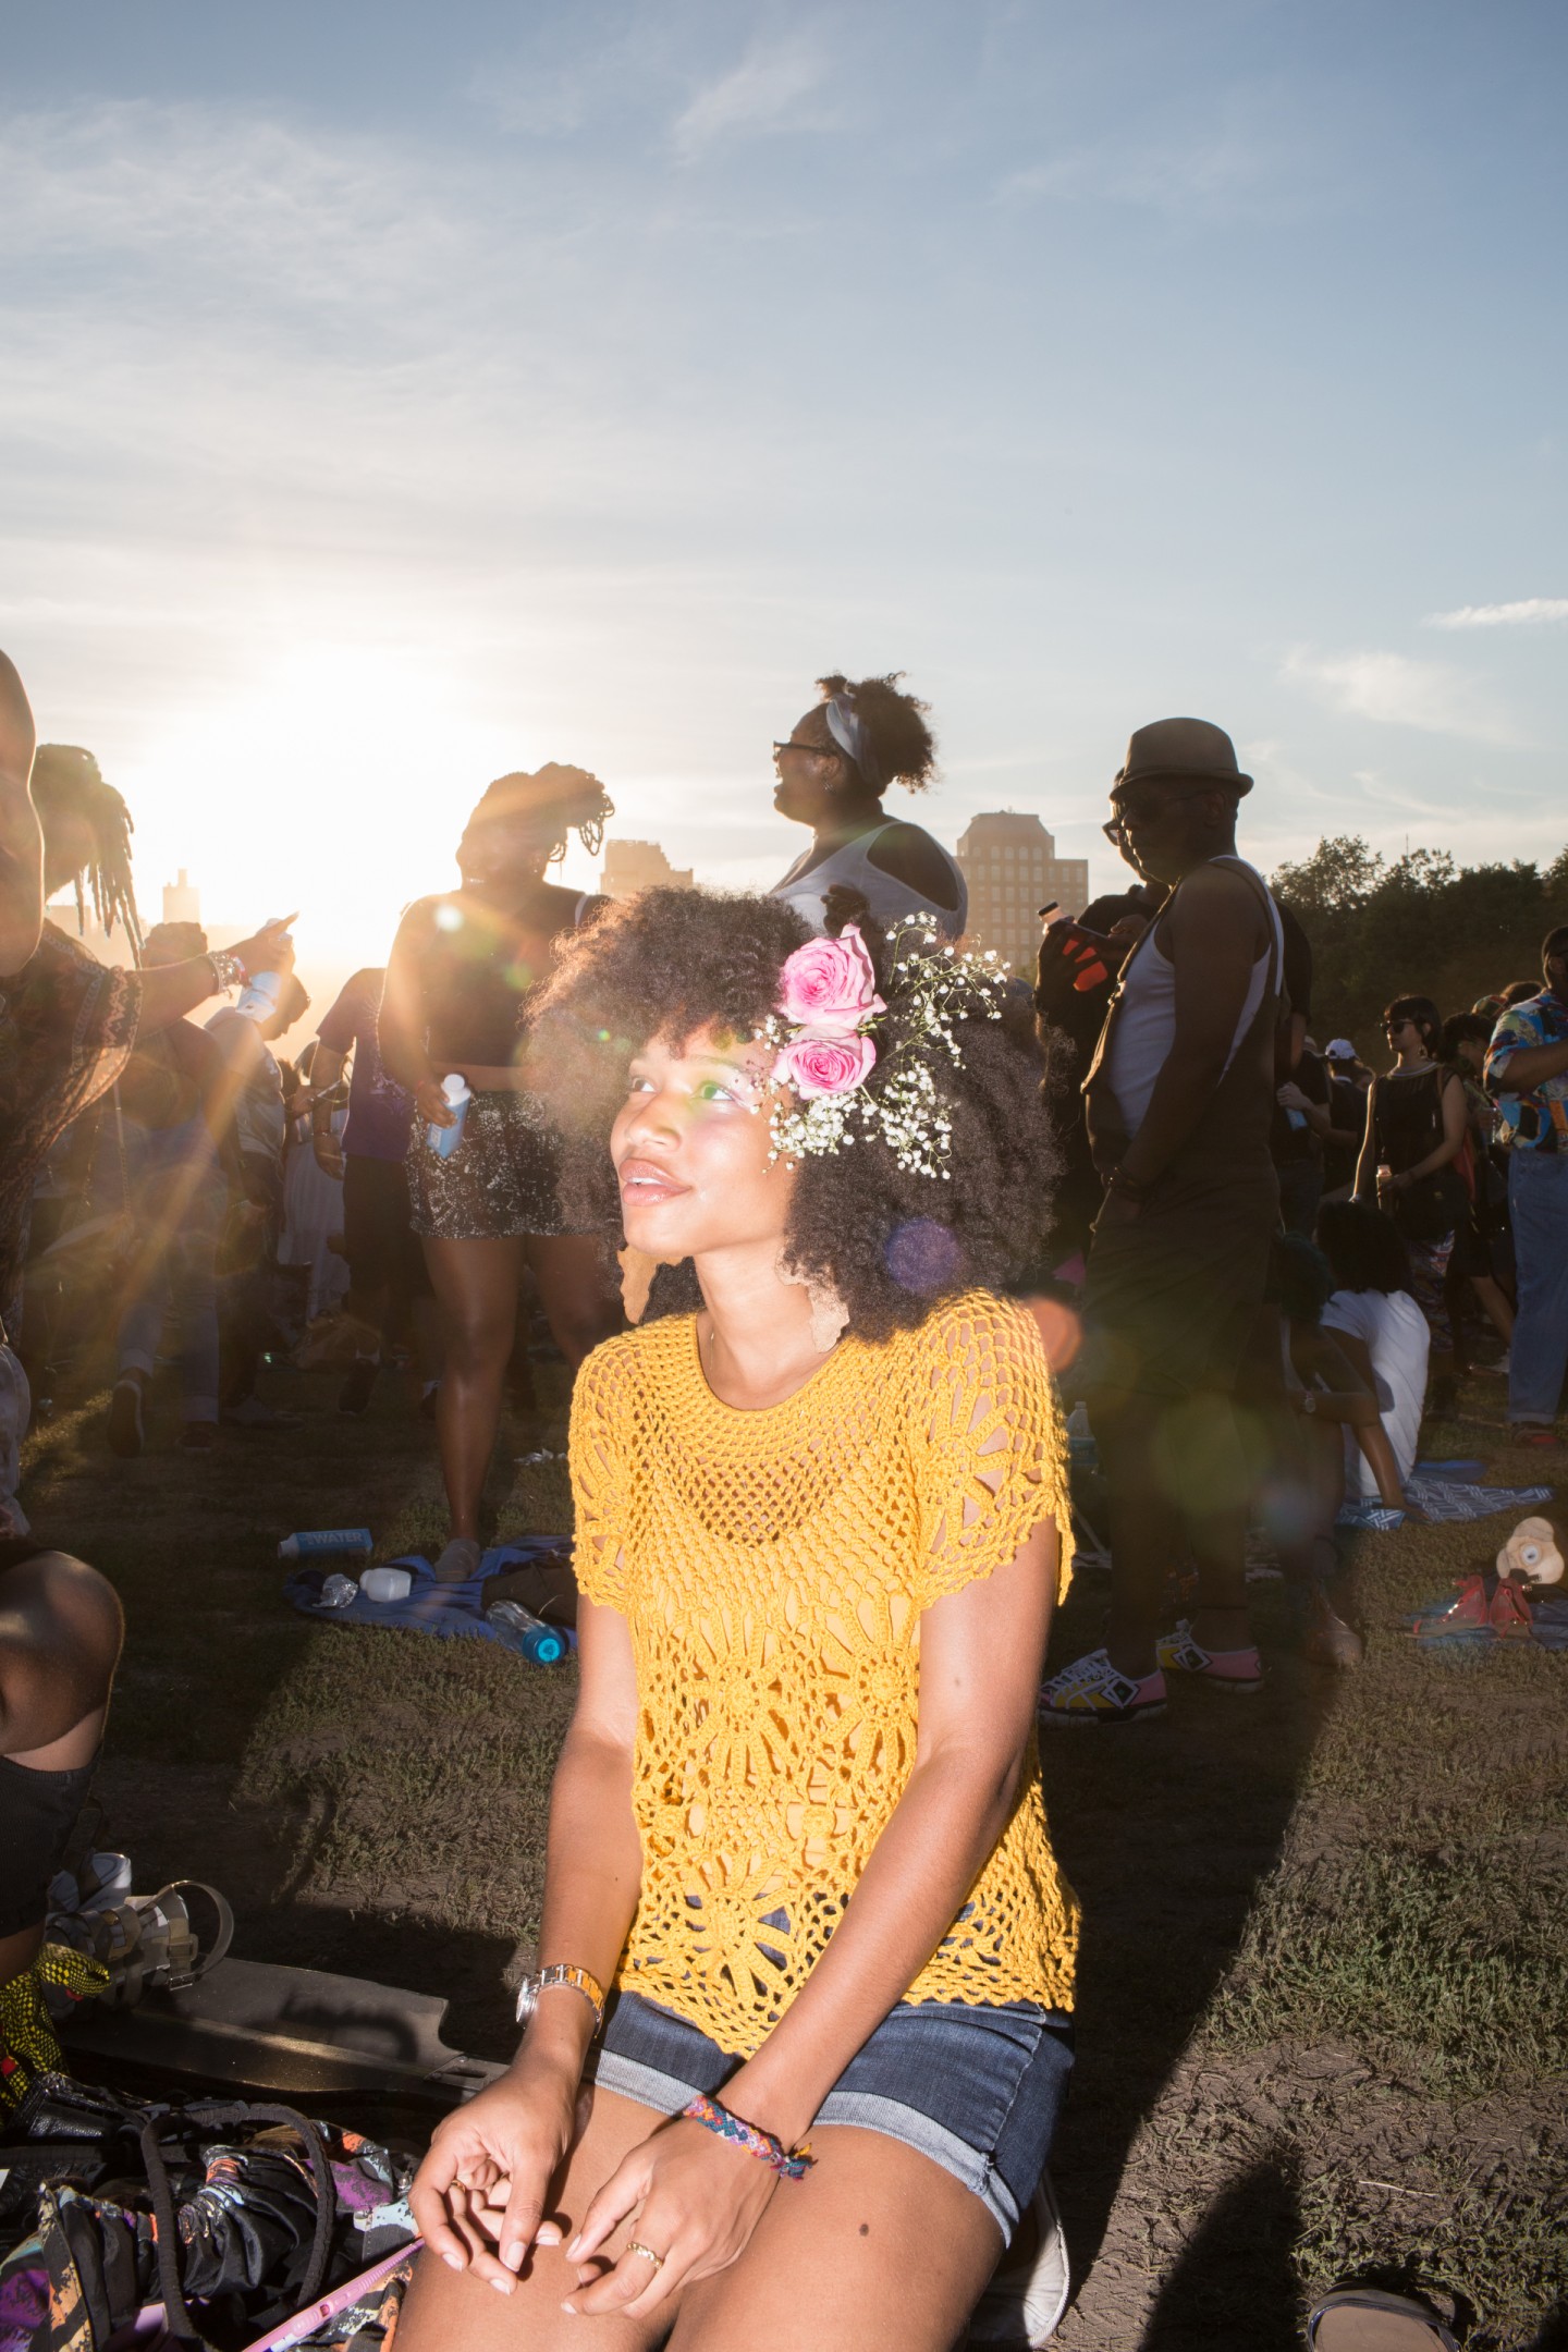
<svg viewBox="0 0 1568 2352"><path fill-rule="evenodd" d="M1406 1247L1392 1218L1354 1200L1321 1209L1316 1237L1335 1279L1324 1308L1324 1329L1333 1331L1359 1378L1378 1397L1382 1432L1394 1449L1394 1470L1403 1486L1420 1446L1429 1348L1427 1317L1410 1296ZM1385 1484L1387 1465L1366 1451L1359 1430L1352 1435L1347 1428L1347 1494L1387 1501Z"/></svg>

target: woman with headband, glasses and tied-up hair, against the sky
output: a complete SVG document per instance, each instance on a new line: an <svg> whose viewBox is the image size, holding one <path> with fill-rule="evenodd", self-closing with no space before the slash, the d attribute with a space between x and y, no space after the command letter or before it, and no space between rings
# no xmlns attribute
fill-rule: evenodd
<svg viewBox="0 0 1568 2352"><path fill-rule="evenodd" d="M936 741L926 727L926 703L898 689L891 677L837 673L818 677L823 689L783 743L773 743L778 786L773 807L797 826L811 826L811 847L795 861L773 898L783 898L813 931L827 927L830 891L846 891L837 913L856 913L860 901L879 924L903 915L926 915L945 938L959 938L969 922L969 889L957 861L924 826L882 814L889 783L924 793L936 771Z"/></svg>

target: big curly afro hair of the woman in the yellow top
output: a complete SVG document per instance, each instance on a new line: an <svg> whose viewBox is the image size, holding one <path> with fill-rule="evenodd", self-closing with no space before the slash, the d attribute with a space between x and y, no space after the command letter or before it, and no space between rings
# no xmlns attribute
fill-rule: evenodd
<svg viewBox="0 0 1568 2352"><path fill-rule="evenodd" d="M788 955L809 938L778 898L649 889L604 908L557 950L531 1004L529 1084L564 1136L562 1202L569 1221L623 1247L621 1192L609 1129L625 1103L628 1063L651 1040L684 1042L712 1025L755 1037L778 1009ZM886 1016L879 1061L914 1035L907 983L893 971L886 938L863 924ZM785 1268L837 1291L851 1331L870 1341L924 1322L943 1298L983 1287L1004 1291L1039 1258L1048 1225L1053 1145L1039 1101L1039 1068L1023 1023L954 1021L961 1065L931 1056L943 1115L952 1122L950 1176L900 1167L879 1134L853 1150L797 1162ZM686 1258L661 1268L649 1315L701 1303Z"/></svg>

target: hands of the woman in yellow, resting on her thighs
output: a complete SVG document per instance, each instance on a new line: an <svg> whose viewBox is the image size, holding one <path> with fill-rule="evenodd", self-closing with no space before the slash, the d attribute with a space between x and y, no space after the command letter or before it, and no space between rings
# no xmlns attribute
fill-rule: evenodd
<svg viewBox="0 0 1568 2352"><path fill-rule="evenodd" d="M576 2136L576 2084L548 2060L529 2065L524 2046L430 2143L409 2199L430 2253L510 2296L534 2246L567 2241L578 2284L564 2310L646 2319L679 2286L726 2270L778 2190L748 2150L675 2117L621 2159L567 2239L571 2225L545 2206ZM623 2227L628 2241L607 2253Z"/></svg>

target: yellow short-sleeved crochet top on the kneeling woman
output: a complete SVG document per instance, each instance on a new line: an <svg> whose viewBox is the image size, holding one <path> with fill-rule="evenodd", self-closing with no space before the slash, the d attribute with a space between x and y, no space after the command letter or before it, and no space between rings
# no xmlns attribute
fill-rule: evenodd
<svg viewBox="0 0 1568 2352"><path fill-rule="evenodd" d="M708 1388L696 1319L665 1317L583 1364L571 1489L578 1583L628 1618L637 1658L642 1893L616 1983L750 2058L914 1766L922 1609L1006 1566L1044 1517L1067 1585L1039 1331L971 1291L884 1345L842 1338L783 1404L738 1411ZM1074 1950L1030 1745L907 1999L1070 2009Z"/></svg>

